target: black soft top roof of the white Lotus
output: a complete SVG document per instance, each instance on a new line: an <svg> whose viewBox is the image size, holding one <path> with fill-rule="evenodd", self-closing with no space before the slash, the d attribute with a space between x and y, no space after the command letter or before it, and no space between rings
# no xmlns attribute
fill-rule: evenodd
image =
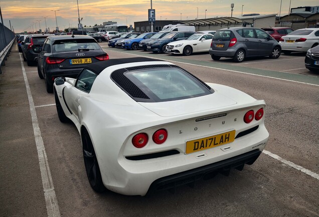
<svg viewBox="0 0 319 217"><path fill-rule="evenodd" d="M134 57L134 58L123 58L123 59L109 59L97 63L92 63L86 65L84 68L100 74L105 68L113 65L125 64L125 63L134 63L134 62L147 62L147 61L163 61L157 59L151 59L147 57Z"/></svg>

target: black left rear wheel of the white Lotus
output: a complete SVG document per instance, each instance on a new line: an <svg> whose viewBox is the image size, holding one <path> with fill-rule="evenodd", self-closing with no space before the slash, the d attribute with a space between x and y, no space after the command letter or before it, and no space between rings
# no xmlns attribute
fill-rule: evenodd
<svg viewBox="0 0 319 217"><path fill-rule="evenodd" d="M90 135L85 128L81 133L81 141L84 166L89 183L94 191L103 192L105 191L105 186L103 185L100 167L97 162Z"/></svg>

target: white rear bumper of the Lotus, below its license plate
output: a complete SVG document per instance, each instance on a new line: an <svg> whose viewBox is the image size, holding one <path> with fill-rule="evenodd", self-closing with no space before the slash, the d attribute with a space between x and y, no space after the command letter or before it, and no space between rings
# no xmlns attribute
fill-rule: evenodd
<svg viewBox="0 0 319 217"><path fill-rule="evenodd" d="M175 153L151 159L119 157L118 164L112 166L116 173L111 175L108 174L107 160L98 160L106 188L125 195L143 196L146 193L194 183L213 173L225 174L231 168L241 170L244 164L252 164L258 158L268 137L266 128L260 125L253 133L235 139L231 144L197 153ZM100 156L106 154L103 152L101 150Z"/></svg>

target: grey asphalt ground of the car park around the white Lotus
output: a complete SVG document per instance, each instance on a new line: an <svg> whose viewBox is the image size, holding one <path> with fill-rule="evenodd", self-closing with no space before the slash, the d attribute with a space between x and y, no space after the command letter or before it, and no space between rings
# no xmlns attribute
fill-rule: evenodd
<svg viewBox="0 0 319 217"><path fill-rule="evenodd" d="M319 73L304 68L304 54L235 63L214 61L206 53L186 57L100 45L110 58L169 60L204 81L265 99L270 138L264 153L243 171L180 187L175 194L97 194L87 181L76 128L59 122L37 66L27 66L15 48L0 75L0 124L5 126L0 130L0 216L319 216ZM40 139L45 150L37 149ZM49 180L42 177L39 156L46 159ZM49 215L52 207L58 212Z"/></svg>

